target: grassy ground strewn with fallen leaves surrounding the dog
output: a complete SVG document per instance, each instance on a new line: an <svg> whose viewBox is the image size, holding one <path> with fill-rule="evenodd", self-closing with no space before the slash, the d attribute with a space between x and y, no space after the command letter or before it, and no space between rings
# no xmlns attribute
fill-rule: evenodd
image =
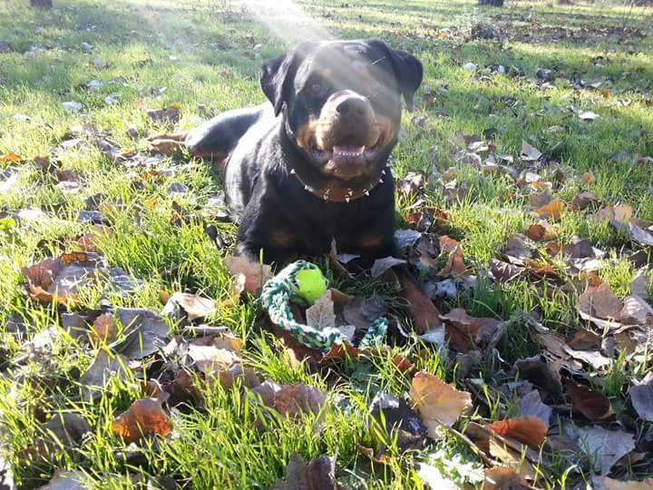
<svg viewBox="0 0 653 490"><path fill-rule="evenodd" d="M629 391L650 371L648 350L642 354L650 317L633 327L644 331L645 340L636 339L630 348L621 348L613 335L620 325L580 318L588 287L607 285L609 294L605 289L601 294L613 293L609 301L620 308L634 294L631 280L646 277L652 261L647 241L653 241L647 230L653 220L650 10L512 0L502 9L461 0L315 0L280 6L229 0L54 0L54 9L46 11L26 4L0 4L0 471L5 461L12 466L16 485L44 485L63 469L82 470L104 488L145 485L148 478L155 486L268 488L285 477L296 452L307 462L336 455L337 480L353 488L420 488L420 464L438 468L457 484L482 485L483 464L492 461L474 453L463 438L446 432L437 442L423 439L406 449L385 427L370 422L369 407L379 392L406 397L413 373L424 370L472 392L473 414L463 417L459 430L469 420L484 424L515 417L524 409L519 370L512 365L538 353L562 363L561 371L556 366L564 377L591 388L593 401L589 411L583 410L570 381L565 394L549 397L537 378L530 379L555 414L540 463L531 461L539 468L533 485L584 488L596 482L593 473L609 471L624 480L653 475L650 407L647 416ZM327 260L320 265L339 289L362 297L379 292L394 331L398 324L410 338L317 368L289 358L288 349L261 327L258 301L232 299L224 257L235 226L208 205L219 195L218 172L188 155L159 160L145 140L263 102L261 60L299 40L372 36L412 52L424 64L417 107L404 114L394 153L397 181L406 175L421 179L413 190L404 186L408 191L397 198L400 228L459 240L463 262L475 277L475 282L453 278L458 279L452 281L454 294L436 299L435 305L443 314L460 308L477 318L506 320L498 322L505 330L493 354L482 352L473 368L463 370L469 358L455 357L456 346L450 345L448 354L410 334L411 315L387 276L371 279L361 272L353 279L338 278L327 271ZM158 109L168 109L170 117L147 113ZM578 210L572 204L581 191L593 193L590 201L603 210L599 216L607 213L611 222L598 219L591 207ZM91 196L96 199L89 201ZM533 211L551 199L550 208ZM629 208L614 208L624 204L634 219L619 215L629 214ZM90 245L78 240L93 228L80 219L83 210L97 211L89 218L106 227L95 227L87 237ZM426 230L424 222L434 210L442 214L431 218ZM527 242L526 249L542 252L526 251L529 258L521 265L528 270L511 269L520 277L508 280L496 269L508 266L493 262L491 268L491 260L520 267L519 253L515 247L506 251L506 243L541 218L548 218L551 236ZM606 252L593 262L596 267L587 268L593 271L571 270L569 254L551 254L574 237ZM127 287L120 289L114 281L112 290L83 288L73 301L59 305L35 292L34 281L47 289L48 272L32 270L34 279L23 268L84 246L94 248L107 267L122 268ZM421 262L427 285L435 284L435 272L448 260L442 241L440 246ZM75 261L80 258L61 260L85 263ZM96 266L89 267L93 273ZM643 284L638 298L646 303L652 297L650 282ZM165 375L171 365L179 369L179 359L172 360L175 348L133 356L130 374L112 377L100 397L89 397L81 374L113 344L97 331L90 342L73 335L63 328L71 319L65 313L94 309L97 316L111 306L160 311L177 291L216 301L217 309L203 323L229 328L242 340L239 357L261 380L324 391L327 402L320 413L262 417L241 381L227 389L196 379L200 393L191 407L172 407L170 400L165 405L168 415L161 416L165 423L159 430L165 437L137 436L128 446L130 438L117 435L112 422L134 400L151 394L151 386L143 387L141 380ZM599 303L599 295L592 300ZM601 316L592 308L592 315ZM614 315L602 316L619 322ZM171 337L183 344L193 330L175 318L166 321ZM576 342L573 355L564 354L566 345L564 352L551 350L527 318L537 320L537 328L548 328L547 335L560 334L553 338L562 338L563 344L582 334L593 339L593 344L588 340L593 347ZM623 315L620 321L625 322ZM450 328L447 323L449 337ZM400 356L412 367L397 363ZM596 362L592 356L607 360ZM613 415L590 413L605 403ZM90 432L67 441L61 436L62 414L83 417ZM42 434L53 416L59 421L60 446ZM168 436L166 417L172 424ZM601 426L614 435L606 439L611 444L632 435L632 447L619 453L629 456L597 469L574 455L569 440L555 436L562 434L555 426L567 424ZM362 447L373 448L385 462L371 461ZM57 456L47 454L53 451ZM501 456L492 458L508 465Z"/></svg>

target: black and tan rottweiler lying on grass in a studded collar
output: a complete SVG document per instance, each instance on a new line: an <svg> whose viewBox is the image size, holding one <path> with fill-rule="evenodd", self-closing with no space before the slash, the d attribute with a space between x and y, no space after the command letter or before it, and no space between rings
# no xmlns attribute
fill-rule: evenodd
<svg viewBox="0 0 653 490"><path fill-rule="evenodd" d="M413 106L422 64L377 40L299 44L263 64L269 103L222 113L172 137L225 162L237 253L266 262L394 251L395 184L387 159L401 100ZM165 144L165 139L154 144Z"/></svg>

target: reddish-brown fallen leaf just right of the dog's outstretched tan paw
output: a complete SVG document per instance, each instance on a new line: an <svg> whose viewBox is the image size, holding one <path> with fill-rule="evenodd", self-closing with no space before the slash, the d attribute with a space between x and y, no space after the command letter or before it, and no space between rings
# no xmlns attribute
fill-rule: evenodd
<svg viewBox="0 0 653 490"><path fill-rule="evenodd" d="M440 315L440 319L450 345L463 352L494 348L502 337L501 320L472 317L462 308L452 309L447 315Z"/></svg>

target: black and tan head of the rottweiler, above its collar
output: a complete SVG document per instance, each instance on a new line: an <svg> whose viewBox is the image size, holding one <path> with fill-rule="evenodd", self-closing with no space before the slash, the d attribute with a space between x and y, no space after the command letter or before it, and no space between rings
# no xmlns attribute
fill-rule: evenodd
<svg viewBox="0 0 653 490"><path fill-rule="evenodd" d="M261 87L283 113L302 158L292 170L311 188L368 189L397 141L422 64L378 40L302 43L263 65Z"/></svg>

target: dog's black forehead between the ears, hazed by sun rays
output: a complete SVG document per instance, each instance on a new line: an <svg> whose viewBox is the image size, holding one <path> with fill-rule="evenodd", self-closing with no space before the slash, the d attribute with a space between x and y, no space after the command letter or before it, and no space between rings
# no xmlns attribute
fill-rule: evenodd
<svg viewBox="0 0 653 490"><path fill-rule="evenodd" d="M359 42L319 44L308 53L295 78L297 90L304 83L321 78L331 83L332 89L365 88L368 83L383 83L396 92L392 64L383 50Z"/></svg>

